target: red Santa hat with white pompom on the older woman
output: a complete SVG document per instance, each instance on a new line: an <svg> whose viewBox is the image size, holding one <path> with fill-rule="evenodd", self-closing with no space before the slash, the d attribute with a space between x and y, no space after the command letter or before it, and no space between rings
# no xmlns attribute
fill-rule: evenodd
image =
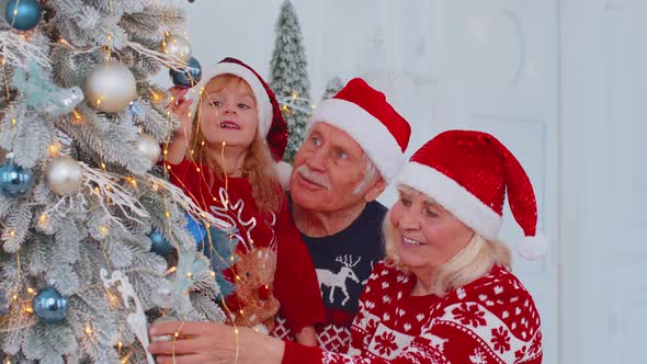
<svg viewBox="0 0 647 364"><path fill-rule="evenodd" d="M449 130L438 135L416 151L398 183L427 194L489 240L499 235L507 191L512 215L525 235L520 255L532 260L546 252L547 240L536 236L533 186L512 152L489 134Z"/></svg>

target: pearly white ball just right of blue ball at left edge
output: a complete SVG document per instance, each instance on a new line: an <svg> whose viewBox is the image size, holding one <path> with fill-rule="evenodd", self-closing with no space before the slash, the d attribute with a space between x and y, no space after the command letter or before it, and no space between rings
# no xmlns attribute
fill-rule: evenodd
<svg viewBox="0 0 647 364"><path fill-rule="evenodd" d="M83 181L83 173L79 162L70 157L63 156L56 157L47 163L45 179L52 192L67 195L79 192Z"/></svg>

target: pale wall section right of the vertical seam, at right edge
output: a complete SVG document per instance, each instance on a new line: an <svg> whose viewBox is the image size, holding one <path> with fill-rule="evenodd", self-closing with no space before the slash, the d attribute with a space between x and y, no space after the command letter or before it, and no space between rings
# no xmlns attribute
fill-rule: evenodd
<svg viewBox="0 0 647 364"><path fill-rule="evenodd" d="M647 2L560 13L560 359L647 363Z"/></svg>

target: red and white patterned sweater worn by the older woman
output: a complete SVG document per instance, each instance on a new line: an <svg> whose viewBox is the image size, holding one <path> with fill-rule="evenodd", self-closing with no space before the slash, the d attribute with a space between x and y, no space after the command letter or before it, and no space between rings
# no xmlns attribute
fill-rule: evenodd
<svg viewBox="0 0 647 364"><path fill-rule="evenodd" d="M444 297L411 296L412 274L381 262L360 299L348 354L286 342L284 364L542 362L540 315L506 268Z"/></svg>

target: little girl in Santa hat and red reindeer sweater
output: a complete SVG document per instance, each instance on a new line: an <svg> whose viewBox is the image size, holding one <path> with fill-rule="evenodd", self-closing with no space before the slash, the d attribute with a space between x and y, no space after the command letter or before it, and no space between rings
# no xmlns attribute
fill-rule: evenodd
<svg viewBox="0 0 647 364"><path fill-rule="evenodd" d="M204 211L238 230L237 262L225 272L236 286L227 298L232 323L271 331L281 305L297 341L316 345L324 306L272 159L281 159L287 141L274 93L234 58L216 64L197 90L188 100L186 90L171 89L181 127L164 167Z"/></svg>

